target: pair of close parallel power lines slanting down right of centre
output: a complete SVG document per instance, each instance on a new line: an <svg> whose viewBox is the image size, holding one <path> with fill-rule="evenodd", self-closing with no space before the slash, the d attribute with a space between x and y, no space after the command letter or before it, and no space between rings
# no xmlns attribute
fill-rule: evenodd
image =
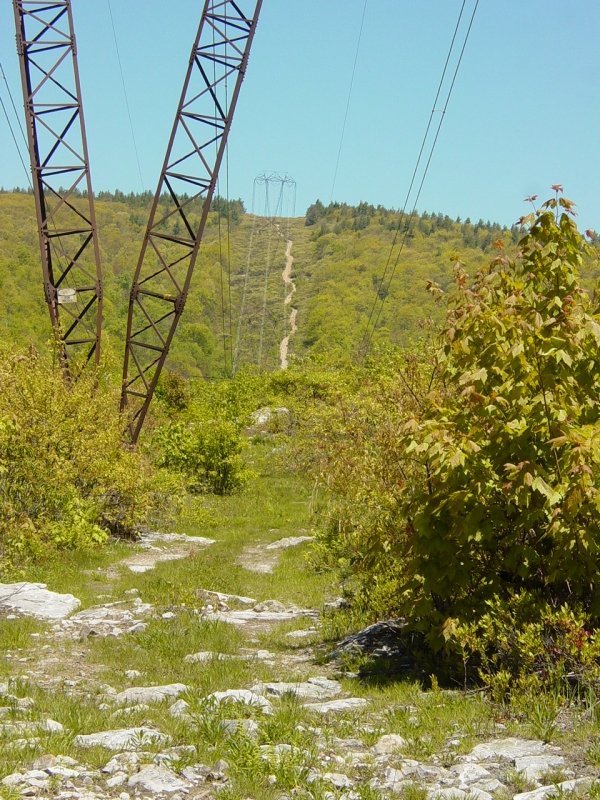
<svg viewBox="0 0 600 800"><path fill-rule="evenodd" d="M459 26L460 26L460 22L461 22L462 14L463 14L463 11L464 11L465 3L466 3L466 0L463 0L463 4L461 6L460 13L459 13L459 16L458 16L458 21L456 23L456 27L454 29L454 34L452 36L452 41L451 41L450 48L449 48L449 51L448 51L448 56L446 57L446 62L444 64L442 77L441 77L440 83L438 85L438 90L437 90L437 93L436 93L436 97L435 97L435 101L434 101L433 108L432 108L432 111L431 111L431 115L429 117L429 122L427 123L427 129L425 131L425 136L423 137L423 142L421 144L421 149L419 151L419 156L417 158L417 164L416 164L415 169L413 171L412 179L411 179L411 182L410 182L410 187L409 187L408 193L406 195L406 199L404 201L404 206L403 206L402 211L400 213L400 219L399 219L398 225L396 227L396 232L394 234L394 240L393 240L392 246L390 248L390 252L389 252L389 255L388 255L388 260L387 260L387 263L386 263L386 266L385 266L383 277L382 277L382 279L380 281L380 284L379 284L380 289L384 288L385 279L387 277L387 273L389 271L390 264L391 264L392 251L393 251L393 249L394 249L394 247L396 245L396 241L397 241L397 238L398 238L398 234L400 232L400 228L402 226L402 222L404 220L404 217L406 216L406 207L408 205L408 200L409 200L409 197L410 197L410 193L412 191L412 187L413 187L415 179L416 179L418 167L419 167L419 164L420 164L420 161L421 161L421 158L422 158L422 155L423 155L423 151L424 151L424 148L425 148L425 143L426 143L427 137L429 135L429 130L431 128L431 122L432 122L432 119L433 119L433 115L436 112L437 101L438 101L440 93L441 93L441 88L442 88L442 84L444 82L444 78L445 78L446 71L447 71L447 68L448 68L448 63L450 61L450 57L451 57L452 51L454 49L454 42L455 42L455 39L456 39L456 36L457 36L457 32L458 32L458 29L459 29ZM459 54L459 57L458 57L458 61L456 63L454 74L452 76L452 81L450 83L450 88L448 89L448 93L446 95L446 100L445 100L445 103L444 103L444 107L443 107L441 115L440 115L440 121L438 123L437 129L436 129L436 132L435 132L433 143L432 143L431 148L429 150L429 156L428 156L427 162L425 164L425 168L424 168L424 171L423 171L423 175L421 177L421 181L420 181L420 184L419 184L419 188L418 188L416 197L414 199L414 202L412 203L412 206L413 206L412 207L412 211L411 211L410 216L408 218L408 222L406 223L406 226L405 226L405 229L404 229L404 236L403 236L402 241L400 243L400 248L398 250L398 254L396 256L394 265L393 265L393 267L391 269L391 273L390 273L389 279L387 280L387 285L385 286L386 292L383 292L383 298L380 298L380 293L378 293L375 296L375 299L373 301L373 305L371 307L371 313L369 314L369 319L367 321L367 325L365 326L365 332L364 332L364 335L363 335L363 338L362 338L362 341L361 341L361 346L360 346L360 350L363 352L363 356L366 355L366 353L368 352L369 347L371 345L371 341L373 339L373 336L375 334L375 330L377 328L377 325L379 323L379 319L381 317L381 312L383 310L383 303L385 302L385 298L387 296L387 293L389 292L389 288L390 288L391 282L392 282L392 280L394 278L394 275L396 273L396 269L398 267L398 263L400 261L400 256L402 255L402 251L404 249L404 245L406 244L406 240L407 240L409 232L410 232L410 226L412 224L412 221L413 221L414 216L415 216L416 211L417 211L417 203L419 202L419 198L421 196L421 191L423 190L423 185L425 183L425 178L427 177L427 173L429 171L431 160L433 158L433 153L435 151L435 147L437 145L437 141L438 141L438 138L439 138L439 135L440 135L442 124L443 124L444 118L446 116L446 111L448 109L448 104L450 102L450 97L452 96L452 91L454 89L454 84L456 83L456 77L458 75L458 70L460 68L460 65L461 65L461 62L462 62L462 59L463 59L463 55L464 55L464 52L465 52L465 49L466 49L466 46L467 46L467 42L469 40L469 35L471 33L471 28L473 27L473 21L475 19L475 14L477 12L478 6L479 6L479 0L475 0L475 5L473 7L473 12L471 14L471 19L469 21L469 26L468 26L467 31L465 33L465 37L464 37L464 40L463 40L462 48L461 48L461 51L460 51L460 54ZM371 322L373 320L373 315L375 313L375 309L377 307L378 301L380 302L379 310L377 312L377 316L375 317L375 321L373 323L373 327L371 329L371 332L369 333L369 328L371 326Z"/></svg>

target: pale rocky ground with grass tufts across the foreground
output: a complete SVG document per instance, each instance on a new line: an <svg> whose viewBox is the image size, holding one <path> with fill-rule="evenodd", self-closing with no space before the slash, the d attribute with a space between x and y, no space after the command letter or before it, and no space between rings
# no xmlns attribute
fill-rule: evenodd
<svg viewBox="0 0 600 800"><path fill-rule="evenodd" d="M303 607L207 584L167 602L183 580L169 570L208 563L215 539L145 536L89 577L106 596L85 607L52 586L0 585L2 624L20 631L0 681L1 796L600 797L589 709L541 707L533 724L478 693L365 682L343 647L321 658L331 596ZM280 560L303 568L309 539L270 529L231 548L231 569L264 598Z"/></svg>

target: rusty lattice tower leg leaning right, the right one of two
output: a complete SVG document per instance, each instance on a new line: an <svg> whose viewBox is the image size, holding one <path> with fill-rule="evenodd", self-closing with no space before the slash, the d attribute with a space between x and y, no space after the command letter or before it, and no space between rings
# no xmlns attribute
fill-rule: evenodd
<svg viewBox="0 0 600 800"><path fill-rule="evenodd" d="M121 408L136 441L183 312L262 0L205 0L129 302Z"/></svg>

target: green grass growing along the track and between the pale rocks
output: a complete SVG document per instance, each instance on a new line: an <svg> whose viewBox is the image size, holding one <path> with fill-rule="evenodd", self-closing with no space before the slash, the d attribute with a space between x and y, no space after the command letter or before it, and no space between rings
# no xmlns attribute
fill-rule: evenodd
<svg viewBox="0 0 600 800"><path fill-rule="evenodd" d="M10 734L4 729L0 777L30 765L45 753L70 755L97 769L112 754L104 748L77 747L74 736L119 727L156 728L168 735L173 745L193 746L193 754L179 753L175 766L198 762L213 765L225 759L231 780L219 794L222 800L270 800L292 790L297 790L298 796L318 800L332 790L321 778L313 780L325 763L330 764L330 771L343 772L356 783L360 800L375 800L381 794L369 786L377 766L369 748L388 733L405 740L401 752L390 756L390 766L406 758L451 766L479 741L518 735L560 745L581 774L597 770L600 701L594 698L566 708L560 699L530 697L520 709L508 709L492 705L481 693L435 687L423 691L418 683L401 678L362 681L345 676L343 668L318 664L305 641L286 638L290 630L313 625L314 620L300 619L248 632L224 622L204 620L196 613L201 589L316 609L336 595L334 577L316 573L309 566L306 546L282 551L271 573L251 572L242 566L248 552L262 545L311 532L311 487L285 467L279 448L280 444L272 440L251 446L254 477L244 492L189 499L176 530L211 537L216 540L211 547L180 561L159 563L140 575L118 566L135 545L115 543L101 551L73 554L60 562L41 565L27 575L54 590L72 592L84 606L130 601L132 590L137 590L143 602L155 606L156 614L146 629L136 634L60 643L41 623L0 621L0 652L4 654L0 670L9 680L9 697L0 702L6 703L7 711L2 712L5 717L0 722L37 724L52 719L64 727L62 732L38 730L32 748L25 750L15 744L22 732ZM163 617L165 613L167 617ZM319 636L315 637L317 644ZM201 664L184 661L187 654L201 650L242 656L252 648L272 651L275 663L216 656ZM27 680L28 673L43 666L42 654L56 656L57 650L61 660L53 669L63 680L52 687ZM127 674L130 670L137 671L135 677ZM367 705L323 717L284 695L273 700L274 713L266 716L256 708L218 706L207 700L211 692L248 688L261 680L298 680L323 674L339 678L347 694L365 698ZM106 688L109 685L120 691L131 685L175 682L189 687L183 695L189 704L186 718L173 717L164 703L119 708ZM228 732L225 719L242 721L238 731ZM243 727L247 720L258 725L253 735ZM282 744L286 747L276 747ZM360 766L345 760L352 748L364 752ZM558 780L561 775L552 777ZM520 774L507 773L506 782L513 793L529 788ZM594 793L591 790L588 796ZM5 792L6 797L9 794ZM339 792L333 796L338 797ZM413 787L403 796L404 800L420 800L424 795L421 788Z"/></svg>

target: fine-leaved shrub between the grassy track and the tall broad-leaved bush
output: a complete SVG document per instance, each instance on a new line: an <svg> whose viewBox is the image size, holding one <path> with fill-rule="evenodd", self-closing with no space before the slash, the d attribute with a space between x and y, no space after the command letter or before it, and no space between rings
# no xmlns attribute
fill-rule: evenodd
<svg viewBox="0 0 600 800"><path fill-rule="evenodd" d="M304 410L296 411L300 461L326 497L318 563L336 567L355 609L373 618L398 609L399 504L415 469L399 431L430 386L427 356L390 348L324 381L325 390L313 392L309 379Z"/></svg>

